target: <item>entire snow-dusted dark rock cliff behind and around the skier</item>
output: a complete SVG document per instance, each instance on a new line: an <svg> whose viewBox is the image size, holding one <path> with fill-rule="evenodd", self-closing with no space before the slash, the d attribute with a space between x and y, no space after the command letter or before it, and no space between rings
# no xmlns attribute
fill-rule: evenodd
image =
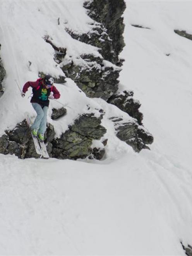
<svg viewBox="0 0 192 256"><path fill-rule="evenodd" d="M89 24L90 30L81 34L65 28L74 40L98 47L100 53L98 56L91 53L81 54L77 60L74 60L72 56L66 54L67 49L55 45L50 36L46 35L44 40L55 50L54 60L65 76L71 78L87 97L102 98L132 117L130 120L125 120L123 117L114 115L110 117L110 121L114 125L117 137L139 152L143 148L148 148L147 144L153 143L153 136L142 125L142 113L139 112L141 104L134 100L133 92L117 93L118 77L123 63L123 59L119 59L118 55L125 45L122 18L125 7L124 0L86 1L84 8L93 19ZM40 71L39 75L43 76ZM65 83L65 76L57 79L57 83ZM97 116L88 110L89 107L87 112L84 111L77 117L74 124L69 125L67 131L57 139L55 139L55 127L48 124L45 142L50 156L61 159L87 156L101 159L105 155L107 139L103 136L106 128L101 125L105 109L95 109L93 112L96 111ZM67 115L65 108L52 109L53 120L62 118L64 115ZM25 120L17 124L14 130L7 130L5 133L0 138L0 153L15 154L19 158L38 157ZM97 146L93 145L95 140L98 141Z"/></svg>

